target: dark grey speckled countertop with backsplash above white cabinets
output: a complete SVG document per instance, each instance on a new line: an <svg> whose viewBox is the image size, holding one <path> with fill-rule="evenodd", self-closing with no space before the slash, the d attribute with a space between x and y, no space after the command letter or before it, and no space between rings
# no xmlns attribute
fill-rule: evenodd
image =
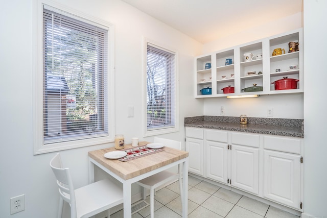
<svg viewBox="0 0 327 218"><path fill-rule="evenodd" d="M194 116L184 118L185 127L228 130L269 135L304 137L303 119L247 117L247 124L240 124L235 116Z"/></svg>

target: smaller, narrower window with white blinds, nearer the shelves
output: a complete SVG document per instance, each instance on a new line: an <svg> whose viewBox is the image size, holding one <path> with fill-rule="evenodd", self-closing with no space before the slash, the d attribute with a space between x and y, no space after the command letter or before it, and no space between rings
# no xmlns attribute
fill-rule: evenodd
<svg viewBox="0 0 327 218"><path fill-rule="evenodd" d="M175 52L147 42L146 135L178 130L176 56Z"/></svg>

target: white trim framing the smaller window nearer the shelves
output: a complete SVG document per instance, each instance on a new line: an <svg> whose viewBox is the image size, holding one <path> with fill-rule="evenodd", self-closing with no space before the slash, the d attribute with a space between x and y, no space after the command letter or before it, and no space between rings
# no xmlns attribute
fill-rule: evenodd
<svg viewBox="0 0 327 218"><path fill-rule="evenodd" d="M160 129L148 130L147 128L147 45L150 43L153 46L158 47L161 50L175 53L175 127L165 127ZM167 45L155 42L149 38L143 37L143 91L144 91L144 101L143 101L143 128L144 128L144 137L167 134L179 131L179 72L178 72L178 51L171 49Z"/></svg>

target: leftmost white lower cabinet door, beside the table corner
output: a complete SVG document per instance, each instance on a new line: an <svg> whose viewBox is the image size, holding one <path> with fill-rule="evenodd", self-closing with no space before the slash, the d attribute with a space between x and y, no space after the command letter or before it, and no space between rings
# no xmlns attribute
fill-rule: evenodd
<svg viewBox="0 0 327 218"><path fill-rule="evenodd" d="M185 150L189 152L189 172L203 176L203 139L186 138Z"/></svg>

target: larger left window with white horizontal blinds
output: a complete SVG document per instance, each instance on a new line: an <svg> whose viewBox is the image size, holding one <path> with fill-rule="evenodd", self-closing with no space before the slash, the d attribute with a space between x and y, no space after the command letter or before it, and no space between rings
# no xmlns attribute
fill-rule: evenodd
<svg viewBox="0 0 327 218"><path fill-rule="evenodd" d="M34 152L108 142L109 28L43 6L42 70L36 75L42 78L42 143Z"/></svg>

